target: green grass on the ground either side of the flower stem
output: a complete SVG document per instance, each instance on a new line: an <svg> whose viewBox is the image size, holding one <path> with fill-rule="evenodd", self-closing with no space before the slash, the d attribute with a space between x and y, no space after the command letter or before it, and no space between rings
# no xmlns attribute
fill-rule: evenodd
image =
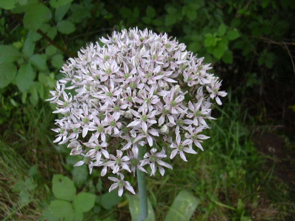
<svg viewBox="0 0 295 221"><path fill-rule="evenodd" d="M212 128L205 133L211 137L203 143L205 151L191 154L187 163L176 157L173 171L166 170L164 177L159 174L148 177L148 195L156 220L165 218L181 189L193 192L200 199L191 220L240 220L239 199L245 209L243 216L253 220L292 220L295 216L294 190L276 175L277 164L270 166L254 146L249 125L253 128L255 124L247 110L242 110L236 100L228 97L223 108L216 107L212 113L218 119L210 122ZM52 198L53 174L71 176L64 164L67 155L57 151L51 142L54 134L50 128L55 116L49 106L27 106L12 111L9 124L1 129L0 217L38 220ZM30 168L34 165L38 173L31 176ZM22 203L22 196L14 192L13 187L30 177L38 186L29 191L30 200ZM93 182L89 179L80 189L91 189L89 183L97 184L97 179ZM105 178L102 181L104 192L108 185ZM130 181L136 182L131 176ZM119 220L130 217L125 200L106 214L112 213Z"/></svg>

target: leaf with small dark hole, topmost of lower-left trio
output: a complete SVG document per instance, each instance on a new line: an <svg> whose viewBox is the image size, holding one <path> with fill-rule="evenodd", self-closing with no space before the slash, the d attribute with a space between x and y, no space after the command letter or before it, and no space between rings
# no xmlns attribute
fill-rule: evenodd
<svg viewBox="0 0 295 221"><path fill-rule="evenodd" d="M55 174L52 179L52 192L58 199L71 201L76 196L76 187L70 178Z"/></svg>

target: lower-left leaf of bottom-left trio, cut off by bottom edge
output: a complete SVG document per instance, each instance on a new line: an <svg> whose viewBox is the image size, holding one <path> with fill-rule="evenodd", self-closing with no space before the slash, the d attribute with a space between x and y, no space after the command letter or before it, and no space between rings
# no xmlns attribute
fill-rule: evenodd
<svg viewBox="0 0 295 221"><path fill-rule="evenodd" d="M48 209L58 219L63 219L64 221L74 220L74 209L70 202L56 199L50 203Z"/></svg>

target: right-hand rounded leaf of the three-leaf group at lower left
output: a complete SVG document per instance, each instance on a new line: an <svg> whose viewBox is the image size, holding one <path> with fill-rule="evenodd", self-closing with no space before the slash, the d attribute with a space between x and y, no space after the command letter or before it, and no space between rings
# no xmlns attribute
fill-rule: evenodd
<svg viewBox="0 0 295 221"><path fill-rule="evenodd" d="M80 212L87 212L94 207L95 195L91 193L81 192L79 193L73 202L75 210Z"/></svg>

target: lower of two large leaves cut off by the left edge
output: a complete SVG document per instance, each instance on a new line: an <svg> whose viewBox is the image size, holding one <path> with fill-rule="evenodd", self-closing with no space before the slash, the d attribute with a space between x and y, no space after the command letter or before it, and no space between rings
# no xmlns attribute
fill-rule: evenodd
<svg viewBox="0 0 295 221"><path fill-rule="evenodd" d="M13 63L0 63L0 89L12 83L17 74L17 67Z"/></svg>

